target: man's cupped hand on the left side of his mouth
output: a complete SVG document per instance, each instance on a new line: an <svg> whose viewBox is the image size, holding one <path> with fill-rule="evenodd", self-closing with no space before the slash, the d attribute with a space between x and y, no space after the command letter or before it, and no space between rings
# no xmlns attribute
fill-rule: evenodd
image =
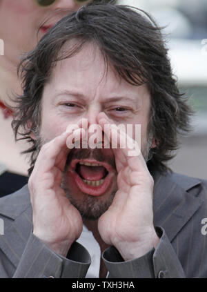
<svg viewBox="0 0 207 292"><path fill-rule="evenodd" d="M70 149L66 146L83 128L66 130L41 147L28 182L32 204L33 233L52 251L66 256L83 228L81 215L61 188Z"/></svg>

